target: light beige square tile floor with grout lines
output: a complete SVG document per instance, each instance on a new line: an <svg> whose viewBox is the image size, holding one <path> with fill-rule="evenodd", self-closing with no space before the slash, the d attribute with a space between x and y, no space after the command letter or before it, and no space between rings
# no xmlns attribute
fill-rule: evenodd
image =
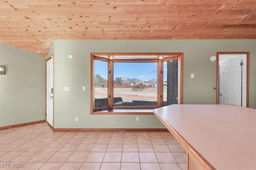
<svg viewBox="0 0 256 170"><path fill-rule="evenodd" d="M169 132L53 132L46 123L0 131L0 170L185 170L186 166L186 151Z"/></svg>

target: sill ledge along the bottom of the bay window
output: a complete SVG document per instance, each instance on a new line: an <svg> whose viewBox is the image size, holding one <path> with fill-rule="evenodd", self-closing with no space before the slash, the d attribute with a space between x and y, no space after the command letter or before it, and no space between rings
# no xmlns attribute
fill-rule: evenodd
<svg viewBox="0 0 256 170"><path fill-rule="evenodd" d="M93 111L91 115L154 115L153 109L108 109Z"/></svg>

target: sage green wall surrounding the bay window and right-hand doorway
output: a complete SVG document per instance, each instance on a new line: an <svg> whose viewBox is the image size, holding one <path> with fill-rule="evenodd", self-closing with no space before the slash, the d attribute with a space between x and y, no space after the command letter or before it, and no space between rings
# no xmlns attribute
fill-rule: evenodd
<svg viewBox="0 0 256 170"><path fill-rule="evenodd" d="M184 104L215 104L216 52L250 52L249 107L256 108L256 40L55 40L54 128L164 128L154 115L90 115L90 53L184 53ZM68 55L73 58L69 59ZM194 73L195 78L190 78ZM86 78L82 77L86 74ZM63 87L70 86L69 92ZM82 91L82 86L86 91ZM75 117L79 121L75 121Z"/></svg>

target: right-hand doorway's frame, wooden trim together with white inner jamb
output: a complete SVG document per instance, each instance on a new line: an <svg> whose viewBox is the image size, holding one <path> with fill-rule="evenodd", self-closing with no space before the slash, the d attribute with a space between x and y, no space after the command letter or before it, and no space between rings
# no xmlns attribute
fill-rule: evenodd
<svg viewBox="0 0 256 170"><path fill-rule="evenodd" d="M216 104L219 103L219 58L221 56L230 56L230 55L246 55L246 61L243 65L243 106L249 107L249 52L217 52L216 59Z"/></svg>

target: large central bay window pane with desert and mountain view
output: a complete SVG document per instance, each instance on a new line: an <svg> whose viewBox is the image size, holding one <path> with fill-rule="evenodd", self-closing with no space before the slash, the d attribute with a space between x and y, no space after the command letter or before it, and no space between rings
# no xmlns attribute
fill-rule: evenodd
<svg viewBox="0 0 256 170"><path fill-rule="evenodd" d="M157 63L114 63L114 106L157 106Z"/></svg>

